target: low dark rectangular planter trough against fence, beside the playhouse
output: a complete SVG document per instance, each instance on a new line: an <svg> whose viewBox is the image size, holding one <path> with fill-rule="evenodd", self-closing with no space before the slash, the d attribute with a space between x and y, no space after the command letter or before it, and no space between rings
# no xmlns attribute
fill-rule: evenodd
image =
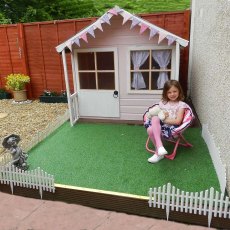
<svg viewBox="0 0 230 230"><path fill-rule="evenodd" d="M66 91L61 93L55 91L45 90L43 94L39 97L40 102L44 103L67 103Z"/></svg>

